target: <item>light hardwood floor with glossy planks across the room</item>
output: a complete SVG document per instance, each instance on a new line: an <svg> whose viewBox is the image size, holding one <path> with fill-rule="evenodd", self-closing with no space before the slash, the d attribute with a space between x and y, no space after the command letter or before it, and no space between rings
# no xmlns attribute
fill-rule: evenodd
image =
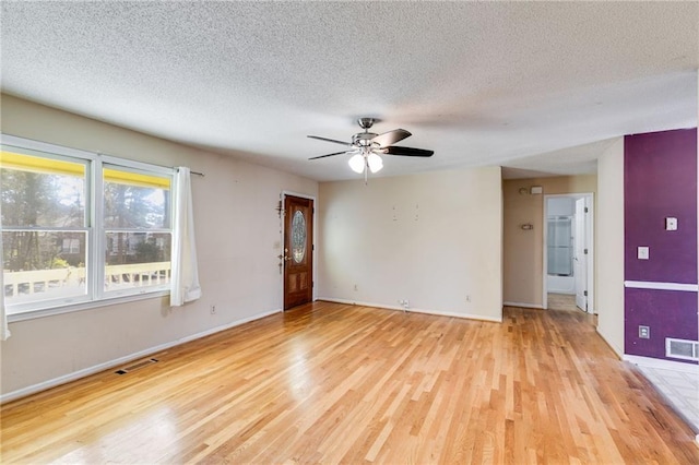
<svg viewBox="0 0 699 465"><path fill-rule="evenodd" d="M2 463L698 464L581 311L316 302L2 406Z"/></svg>

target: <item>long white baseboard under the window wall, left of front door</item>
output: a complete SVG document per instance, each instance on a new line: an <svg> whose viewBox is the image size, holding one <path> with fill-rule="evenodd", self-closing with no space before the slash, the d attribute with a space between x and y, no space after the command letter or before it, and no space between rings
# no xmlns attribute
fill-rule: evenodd
<svg viewBox="0 0 699 465"><path fill-rule="evenodd" d="M10 401L15 401L17 398L25 397L25 396L31 395L31 394L36 394L37 392L46 391L48 389L56 388L58 385L66 384L66 383L71 382L71 381L75 381L75 380L79 380L81 378L85 378L85 377L88 377L91 374L95 374L95 373L98 373L100 371L105 371L105 370L108 370L110 368L118 367L119 365L122 365L122 363L126 363L126 362L129 362L129 361L132 361L132 360L135 360L135 359L139 359L139 358L143 358L143 357L149 356L151 354L155 354L155 353L158 353L158 351L162 351L162 350L166 350L166 349L175 347L175 346L179 346L181 344L189 343L189 342L194 341L194 339L199 339L199 338L202 338L202 337L205 337L205 336L210 336L212 334L220 333L222 331L229 330L232 327L239 326L241 324L249 323L251 321L259 320L261 318L269 317L269 315L274 314L274 313L280 313L281 311L282 311L281 309L277 309L277 310L272 310L272 311L268 311L268 312L264 312L264 313L259 313L259 314L256 314L253 317L244 318L241 320L236 320L236 321L234 321L232 323L227 323L227 324L224 324L222 326L212 327L211 330L202 331L201 333L197 333L197 334L192 334L192 335L189 335L189 336L186 336L186 337L181 337L179 339L176 339L176 341L173 341L173 342L169 342L169 343L159 344L157 346L153 346L153 347L150 347L150 348L144 349L144 350L139 350L137 353L132 353L132 354L126 355L123 357L119 357L117 359L114 359L114 360L105 361L103 363L98 363L98 365L95 365L95 366L92 366L92 367L88 367L88 368L84 368L82 370L73 371L72 373L63 374L61 377L54 378L51 380L47 380L47 381L44 381L44 382L40 382L40 383L37 383L37 384L33 384L33 385L27 386L27 388L22 388L22 389L16 390L16 391L12 391L12 392L9 392L9 393L5 393L5 394L1 394L0 395L0 404L3 404L5 402L10 402Z"/></svg>

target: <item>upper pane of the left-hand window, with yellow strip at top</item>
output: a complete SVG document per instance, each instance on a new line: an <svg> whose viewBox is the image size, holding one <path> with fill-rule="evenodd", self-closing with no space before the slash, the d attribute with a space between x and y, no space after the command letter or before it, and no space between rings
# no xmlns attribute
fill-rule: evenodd
<svg viewBox="0 0 699 465"><path fill-rule="evenodd" d="M3 227L85 226L85 165L2 152Z"/></svg>

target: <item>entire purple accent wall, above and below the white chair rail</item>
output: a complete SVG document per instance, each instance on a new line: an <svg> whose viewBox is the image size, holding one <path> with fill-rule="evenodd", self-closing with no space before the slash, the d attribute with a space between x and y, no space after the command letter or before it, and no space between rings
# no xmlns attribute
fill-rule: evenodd
<svg viewBox="0 0 699 465"><path fill-rule="evenodd" d="M625 279L697 284L696 128L625 138L624 204ZM677 230L665 230L668 216ZM649 247L649 260L638 247ZM697 341L697 307L696 291L627 288L624 351L665 359L666 337ZM650 339L638 337L639 325Z"/></svg>

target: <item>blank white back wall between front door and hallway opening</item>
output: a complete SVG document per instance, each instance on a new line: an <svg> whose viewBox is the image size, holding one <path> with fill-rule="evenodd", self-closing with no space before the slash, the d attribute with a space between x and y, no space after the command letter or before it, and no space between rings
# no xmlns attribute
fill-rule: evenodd
<svg viewBox="0 0 699 465"><path fill-rule="evenodd" d="M318 219L319 298L501 321L499 167L323 182Z"/></svg>

